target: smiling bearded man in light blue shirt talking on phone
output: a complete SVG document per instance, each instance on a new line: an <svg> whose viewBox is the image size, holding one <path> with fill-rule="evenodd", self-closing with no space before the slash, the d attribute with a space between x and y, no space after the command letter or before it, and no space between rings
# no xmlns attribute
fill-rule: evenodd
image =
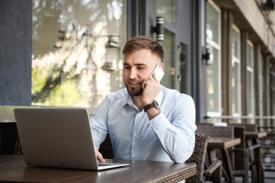
<svg viewBox="0 0 275 183"><path fill-rule="evenodd" d="M130 39L123 48L126 89L108 94L90 119L97 150L106 134L116 159L158 160L184 163L195 146L193 99L161 86L152 74L164 68L164 51L150 37Z"/></svg>

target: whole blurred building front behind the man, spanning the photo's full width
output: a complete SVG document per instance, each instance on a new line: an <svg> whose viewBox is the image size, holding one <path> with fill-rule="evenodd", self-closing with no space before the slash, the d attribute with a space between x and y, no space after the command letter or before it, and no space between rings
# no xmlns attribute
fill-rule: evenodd
<svg viewBox="0 0 275 183"><path fill-rule="evenodd" d="M0 105L96 108L124 87L123 45L148 35L197 122L274 126L273 1L11 0L0 15Z"/></svg>

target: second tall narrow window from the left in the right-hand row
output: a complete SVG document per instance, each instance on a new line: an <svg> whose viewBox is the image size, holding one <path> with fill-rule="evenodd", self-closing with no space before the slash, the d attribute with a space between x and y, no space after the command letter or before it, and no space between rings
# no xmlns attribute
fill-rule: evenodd
<svg viewBox="0 0 275 183"><path fill-rule="evenodd" d="M240 116L240 32L234 26L232 28L232 113Z"/></svg>

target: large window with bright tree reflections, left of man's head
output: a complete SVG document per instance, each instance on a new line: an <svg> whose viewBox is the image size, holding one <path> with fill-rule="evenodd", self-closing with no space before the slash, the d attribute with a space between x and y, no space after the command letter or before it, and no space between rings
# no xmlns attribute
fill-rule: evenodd
<svg viewBox="0 0 275 183"><path fill-rule="evenodd" d="M126 1L32 1L32 105L97 107L124 87Z"/></svg>

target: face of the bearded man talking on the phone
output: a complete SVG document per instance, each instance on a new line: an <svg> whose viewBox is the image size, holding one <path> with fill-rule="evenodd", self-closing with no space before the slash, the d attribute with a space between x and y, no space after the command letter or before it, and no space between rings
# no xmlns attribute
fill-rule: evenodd
<svg viewBox="0 0 275 183"><path fill-rule="evenodd" d="M143 80L151 75L154 67L161 63L149 49L142 49L124 56L123 78L130 96L141 96Z"/></svg>

